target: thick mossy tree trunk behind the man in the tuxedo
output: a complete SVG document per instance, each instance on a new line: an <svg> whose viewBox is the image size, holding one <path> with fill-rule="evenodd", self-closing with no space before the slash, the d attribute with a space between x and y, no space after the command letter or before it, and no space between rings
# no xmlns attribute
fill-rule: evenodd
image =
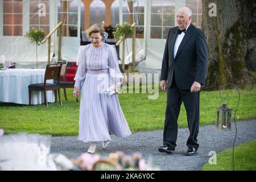
<svg viewBox="0 0 256 182"><path fill-rule="evenodd" d="M208 14L212 9L208 7L210 3L216 4L216 16ZM207 37L209 52L206 85L208 90L219 89L227 83L243 88L255 82L246 67L246 55L251 49L248 43L251 34L246 34L250 4L255 6L253 0L202 1L202 29ZM251 20L255 27L256 19Z"/></svg>

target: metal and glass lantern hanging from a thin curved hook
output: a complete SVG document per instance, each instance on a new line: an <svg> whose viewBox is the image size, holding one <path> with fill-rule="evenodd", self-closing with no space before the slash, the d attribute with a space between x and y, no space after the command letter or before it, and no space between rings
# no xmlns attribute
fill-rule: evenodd
<svg viewBox="0 0 256 182"><path fill-rule="evenodd" d="M221 107L217 108L217 121L216 121L217 129L230 129L231 111L232 109L230 109L229 107L226 107L226 104L222 104ZM221 121L219 121L219 118L221 118Z"/></svg>

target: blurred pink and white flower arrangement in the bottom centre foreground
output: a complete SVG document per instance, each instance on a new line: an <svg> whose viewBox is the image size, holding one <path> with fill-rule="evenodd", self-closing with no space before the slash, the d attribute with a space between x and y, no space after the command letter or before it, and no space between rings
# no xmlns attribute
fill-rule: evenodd
<svg viewBox="0 0 256 182"><path fill-rule="evenodd" d="M152 171L160 170L151 167L142 159L141 153L137 152L133 156L123 155L123 152L117 151L109 154L106 158L101 158L97 154L84 153L77 159L71 159L72 163L81 170L85 171Z"/></svg>

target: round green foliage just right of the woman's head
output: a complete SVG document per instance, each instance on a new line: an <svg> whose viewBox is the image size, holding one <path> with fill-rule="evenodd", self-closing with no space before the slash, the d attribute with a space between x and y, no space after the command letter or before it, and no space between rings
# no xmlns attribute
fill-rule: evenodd
<svg viewBox="0 0 256 182"><path fill-rule="evenodd" d="M131 27L131 24L125 22L121 24L120 26L117 25L117 30L113 33L115 42L117 42L119 39L122 39L123 36L129 36L133 35L134 28Z"/></svg>

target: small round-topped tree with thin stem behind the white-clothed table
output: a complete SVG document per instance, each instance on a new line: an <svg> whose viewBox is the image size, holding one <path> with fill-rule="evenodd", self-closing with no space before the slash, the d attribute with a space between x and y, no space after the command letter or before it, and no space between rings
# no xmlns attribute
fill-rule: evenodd
<svg viewBox="0 0 256 182"><path fill-rule="evenodd" d="M28 31L25 37L30 41L30 44L36 45L36 68L38 68L38 46L42 43L42 40L45 37L43 28L37 30L36 28L32 27L30 31Z"/></svg>

